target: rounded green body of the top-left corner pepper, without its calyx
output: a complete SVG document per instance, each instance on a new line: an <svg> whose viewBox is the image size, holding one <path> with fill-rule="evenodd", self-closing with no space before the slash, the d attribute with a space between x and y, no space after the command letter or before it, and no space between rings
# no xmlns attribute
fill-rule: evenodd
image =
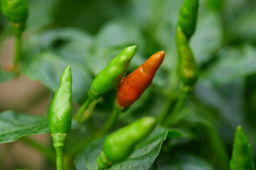
<svg viewBox="0 0 256 170"><path fill-rule="evenodd" d="M27 0L1 0L1 11L13 23L23 23L28 17Z"/></svg>

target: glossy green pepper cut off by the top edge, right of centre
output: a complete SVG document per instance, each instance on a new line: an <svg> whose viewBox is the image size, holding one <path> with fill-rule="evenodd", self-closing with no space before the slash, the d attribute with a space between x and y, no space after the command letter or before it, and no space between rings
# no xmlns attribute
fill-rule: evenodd
<svg viewBox="0 0 256 170"><path fill-rule="evenodd" d="M198 7L198 0L185 0L181 6L177 27L183 30L188 40L196 30Z"/></svg>

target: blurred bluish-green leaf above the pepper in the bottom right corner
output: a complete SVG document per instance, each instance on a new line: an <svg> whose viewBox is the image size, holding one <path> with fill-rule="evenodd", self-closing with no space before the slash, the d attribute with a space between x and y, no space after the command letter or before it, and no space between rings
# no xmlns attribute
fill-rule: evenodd
<svg viewBox="0 0 256 170"><path fill-rule="evenodd" d="M215 86L209 81L198 82L195 95L202 103L205 103L218 111L223 126L236 127L243 122L243 93L244 82L237 80L222 86ZM225 136L228 137L228 136Z"/></svg>

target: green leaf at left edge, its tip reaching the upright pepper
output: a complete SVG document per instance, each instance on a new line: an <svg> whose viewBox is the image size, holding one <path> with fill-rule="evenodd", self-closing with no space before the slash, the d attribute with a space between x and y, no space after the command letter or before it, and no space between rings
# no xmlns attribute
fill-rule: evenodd
<svg viewBox="0 0 256 170"><path fill-rule="evenodd" d="M50 130L46 116L23 115L14 111L0 113L0 143L14 142L26 135L47 132Z"/></svg>

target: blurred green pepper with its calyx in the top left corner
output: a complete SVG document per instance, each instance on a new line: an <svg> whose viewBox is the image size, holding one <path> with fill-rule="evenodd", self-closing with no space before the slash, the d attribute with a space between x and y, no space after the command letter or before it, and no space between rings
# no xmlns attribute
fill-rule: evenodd
<svg viewBox="0 0 256 170"><path fill-rule="evenodd" d="M20 36L25 30L26 18L28 17L28 1L1 0L1 11L11 21L14 35Z"/></svg>

